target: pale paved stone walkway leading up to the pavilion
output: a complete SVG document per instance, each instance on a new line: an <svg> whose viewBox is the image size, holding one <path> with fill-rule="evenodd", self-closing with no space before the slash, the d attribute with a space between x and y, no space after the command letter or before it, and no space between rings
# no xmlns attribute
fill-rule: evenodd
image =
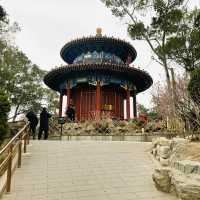
<svg viewBox="0 0 200 200"><path fill-rule="evenodd" d="M148 143L32 141L3 200L175 200L152 182Z"/></svg>

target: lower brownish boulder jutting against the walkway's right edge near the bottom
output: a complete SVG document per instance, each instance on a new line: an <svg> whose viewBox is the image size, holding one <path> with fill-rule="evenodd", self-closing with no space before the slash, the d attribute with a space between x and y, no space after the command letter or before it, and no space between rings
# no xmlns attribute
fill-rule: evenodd
<svg viewBox="0 0 200 200"><path fill-rule="evenodd" d="M171 191L171 175L168 168L156 168L153 175L153 181L158 190L169 193Z"/></svg>

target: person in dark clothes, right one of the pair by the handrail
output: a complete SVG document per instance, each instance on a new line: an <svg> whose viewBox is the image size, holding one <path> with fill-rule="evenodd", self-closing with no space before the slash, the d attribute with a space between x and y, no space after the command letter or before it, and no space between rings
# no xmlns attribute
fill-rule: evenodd
<svg viewBox="0 0 200 200"><path fill-rule="evenodd" d="M42 133L44 132L44 139L48 138L48 131L49 131L49 118L51 114L49 114L46 108L43 108L42 112L40 113L40 129L38 134L38 140L41 139Z"/></svg>

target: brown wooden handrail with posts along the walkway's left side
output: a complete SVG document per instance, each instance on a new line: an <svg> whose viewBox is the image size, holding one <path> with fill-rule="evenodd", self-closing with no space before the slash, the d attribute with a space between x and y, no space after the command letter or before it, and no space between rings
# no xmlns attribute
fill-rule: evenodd
<svg viewBox="0 0 200 200"><path fill-rule="evenodd" d="M6 145L0 150L0 197L6 190L11 190L11 179L16 167L21 167L22 150L26 153L29 144L29 124L27 123ZM1 177L4 177L1 179ZM2 182L1 182L2 181Z"/></svg>

